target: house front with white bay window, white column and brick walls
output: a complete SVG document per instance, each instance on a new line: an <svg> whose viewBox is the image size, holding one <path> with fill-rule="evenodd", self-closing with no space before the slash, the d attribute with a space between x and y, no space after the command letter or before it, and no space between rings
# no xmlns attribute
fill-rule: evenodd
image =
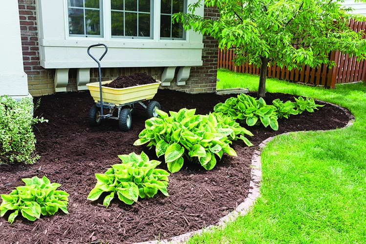
<svg viewBox="0 0 366 244"><path fill-rule="evenodd" d="M147 72L162 86L215 92L217 41L172 24L194 0L18 0L2 8L0 96L82 91L97 81L87 48L108 46L103 80ZM217 18L215 9L198 13ZM93 47L97 59L104 47Z"/></svg>

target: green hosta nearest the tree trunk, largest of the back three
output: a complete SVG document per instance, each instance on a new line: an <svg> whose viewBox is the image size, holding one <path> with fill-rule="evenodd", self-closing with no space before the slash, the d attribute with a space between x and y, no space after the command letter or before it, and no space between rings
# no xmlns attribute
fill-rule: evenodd
<svg viewBox="0 0 366 244"><path fill-rule="evenodd" d="M246 94L239 94L237 98L229 98L224 103L217 103L214 111L228 115L248 126L262 123L265 127L271 126L273 130L279 129L276 107L267 105L262 98L257 100Z"/></svg>

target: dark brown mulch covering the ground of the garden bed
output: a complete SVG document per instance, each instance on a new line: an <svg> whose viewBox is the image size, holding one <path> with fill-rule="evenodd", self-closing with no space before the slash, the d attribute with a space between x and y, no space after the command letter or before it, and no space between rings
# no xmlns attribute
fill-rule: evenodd
<svg viewBox="0 0 366 244"><path fill-rule="evenodd" d="M186 107L196 108L196 114L207 114L213 111L215 104L230 96L236 94L193 95L159 89L153 100L158 101L164 111ZM280 93L267 93L265 101L271 104L277 98L293 101L292 95ZM34 127L36 148L41 158L32 165L0 165L0 193L9 194L16 186L24 185L22 178L46 175L51 182L61 183L59 189L70 194L69 214L59 211L35 222L18 216L13 224L7 222L6 214L0 218L1 244L134 243L167 239L216 224L251 191L249 165L260 142L290 131L341 128L350 119L349 112L327 103L314 113L304 112L290 116L288 120L280 119L278 131L269 126L248 127L254 134L249 140L255 146L234 142L232 146L237 157L224 155L210 171L186 163L181 171L169 177L169 197L158 194L132 205L117 199L106 209L102 205L103 197L95 202L87 201L86 197L95 186L95 173L104 173L110 165L121 163L117 155L144 151L150 159L162 161L159 165L162 168L165 163L164 158L156 157L153 149L133 145L144 129L145 110L135 111L131 129L121 132L116 120L89 127L88 111L93 104L88 91L41 98L35 115L48 119L47 123L38 123Z"/></svg>

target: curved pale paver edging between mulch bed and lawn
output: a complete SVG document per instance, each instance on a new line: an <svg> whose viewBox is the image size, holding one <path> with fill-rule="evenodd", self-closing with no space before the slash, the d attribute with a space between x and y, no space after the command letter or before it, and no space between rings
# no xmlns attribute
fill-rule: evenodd
<svg viewBox="0 0 366 244"><path fill-rule="evenodd" d="M323 102L323 101L319 101L319 102ZM346 115L348 115L349 121L344 126L344 128L351 126L353 124L355 117L348 111L348 109L341 107L339 105L330 103L330 102L324 102L324 103L336 106L336 107L342 109ZM306 132L308 132L308 131L306 131ZM283 133L283 134L289 134L289 133L291 133L291 132L287 132L287 133ZM283 134L280 134L280 135L283 135ZM263 149L265 147L265 145L268 142L272 141L274 138L275 137L269 137L266 140L264 140L263 142L261 142L259 144L259 149L260 150ZM199 229L199 230L191 231L191 232L179 235L179 236L175 236L175 237L170 238L169 240L156 240L156 241L141 242L141 243L135 243L135 244L181 244L181 243L186 242L190 237L192 237L195 234L200 234L204 231L207 232L210 229L217 228L217 227L223 228L223 227L225 227L226 224L231 223L234 220L236 220L236 218L239 215L246 215L260 195L259 188L260 188L260 182L262 180L262 170L261 170L262 163L260 160L260 151L259 150L254 151L254 154L252 156L252 164L250 167L252 168L252 170L250 172L252 175L252 178L250 180L249 185L252 187L252 192L248 194L248 197L244 200L243 203L240 203L234 211L230 212L225 217L222 217L218 221L217 224L209 225L208 227L205 227L204 229Z"/></svg>

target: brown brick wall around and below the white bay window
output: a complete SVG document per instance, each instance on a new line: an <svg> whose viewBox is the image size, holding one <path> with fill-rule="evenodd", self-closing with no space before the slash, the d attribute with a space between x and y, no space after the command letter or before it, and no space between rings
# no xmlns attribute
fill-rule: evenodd
<svg viewBox="0 0 366 244"><path fill-rule="evenodd" d="M55 92L55 69L44 69L40 66L37 13L35 0L18 0L19 18L21 24L21 38L23 51L24 72L28 75L28 89L32 96L43 96ZM217 9L205 8L206 18L217 18ZM175 78L170 89L188 93L213 93L216 90L218 44L212 37L203 37L202 66L191 68L190 78L183 86L175 85ZM102 80L112 80L120 75L135 72L146 72L153 78L160 80L164 67L141 68L102 68ZM76 91L77 69L69 69L67 91ZM178 72L178 68L176 69ZM90 69L90 81L98 81L98 69ZM175 75L176 77L176 75ZM166 88L166 86L164 86Z"/></svg>

